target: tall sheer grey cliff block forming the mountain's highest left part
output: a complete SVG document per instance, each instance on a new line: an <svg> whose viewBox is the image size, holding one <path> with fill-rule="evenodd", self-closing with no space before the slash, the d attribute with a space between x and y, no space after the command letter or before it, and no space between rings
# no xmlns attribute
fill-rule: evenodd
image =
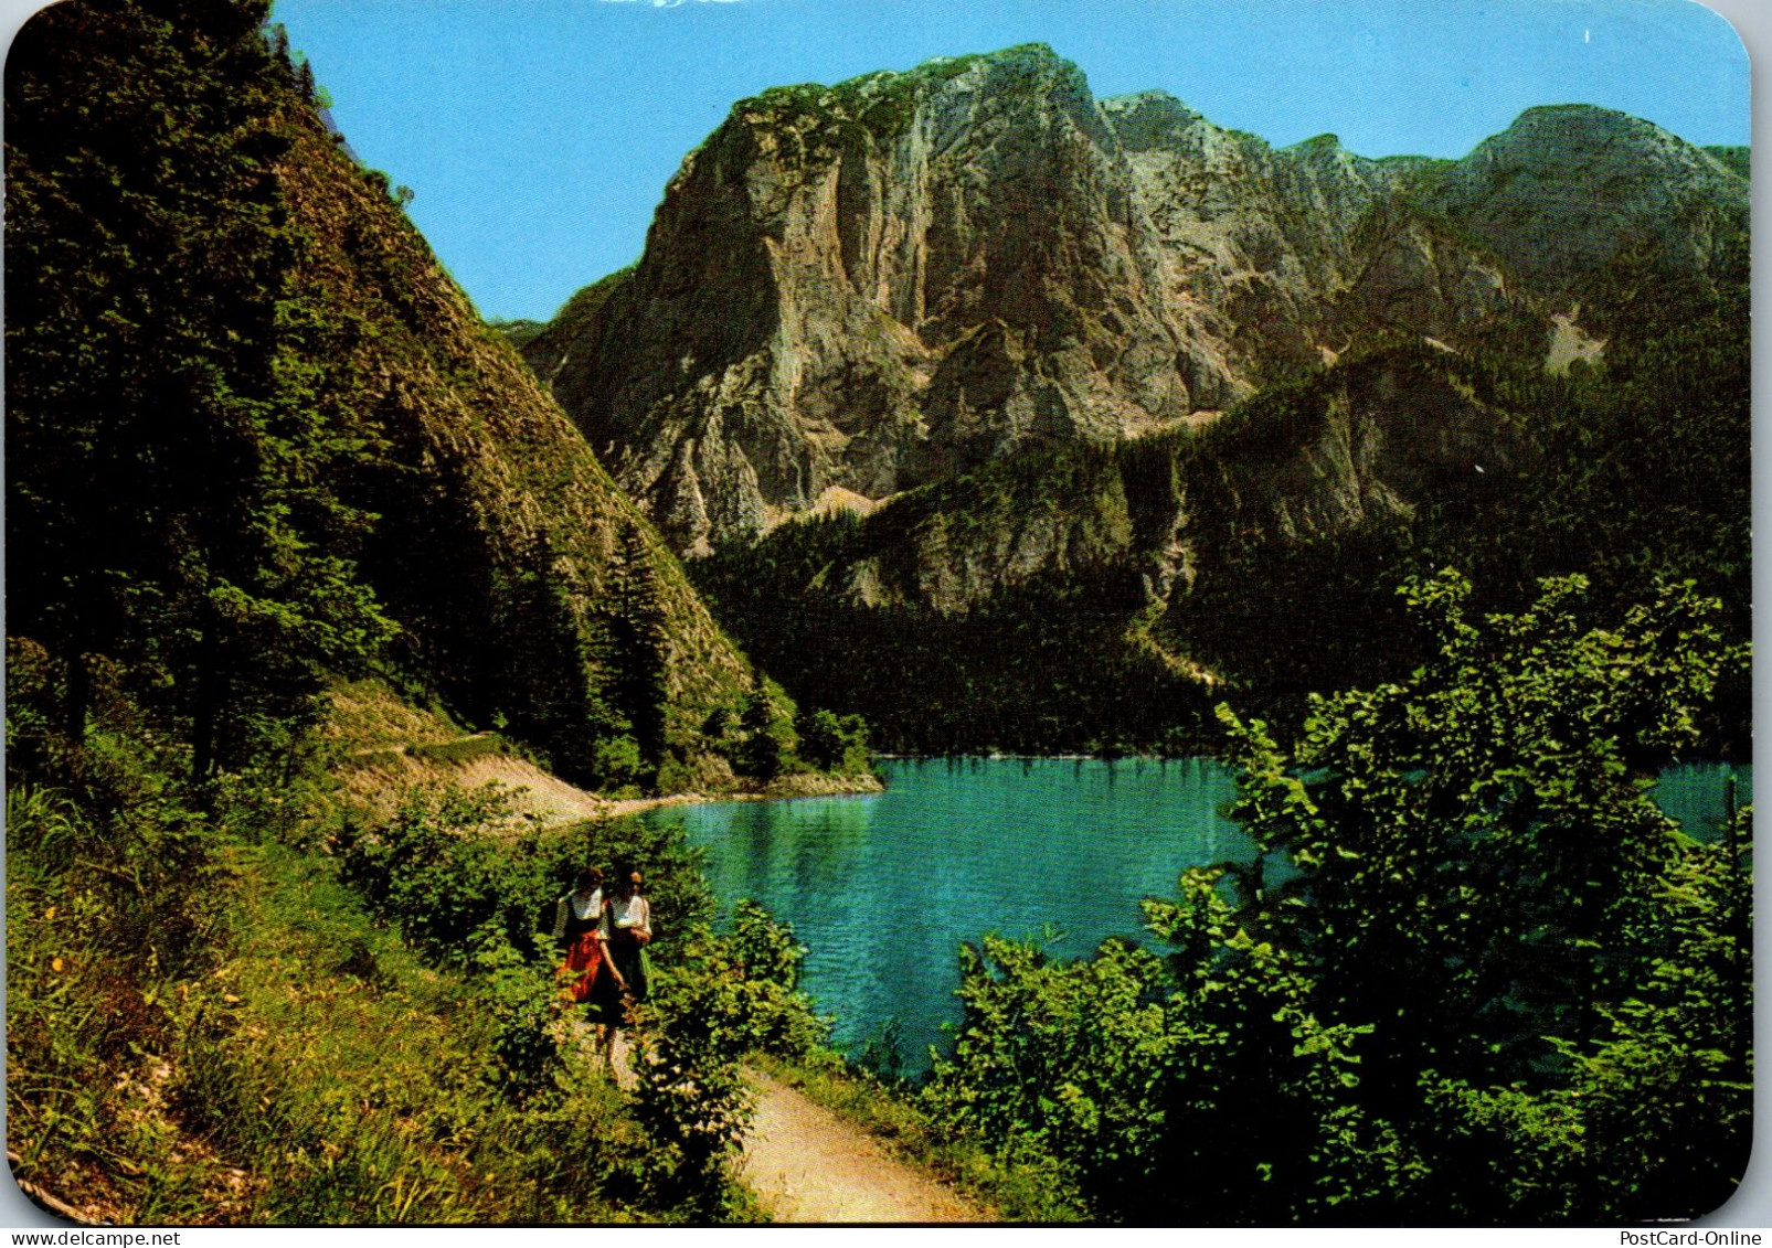
<svg viewBox="0 0 1772 1248"><path fill-rule="evenodd" d="M540 375L684 549L1244 393L1044 48L737 104Z"/></svg>

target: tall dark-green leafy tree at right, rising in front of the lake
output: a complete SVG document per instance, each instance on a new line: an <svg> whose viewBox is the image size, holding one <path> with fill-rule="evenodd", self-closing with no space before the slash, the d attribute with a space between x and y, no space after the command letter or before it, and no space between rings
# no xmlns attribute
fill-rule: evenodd
<svg viewBox="0 0 1772 1248"><path fill-rule="evenodd" d="M1690 586L1614 630L1581 627L1584 588L1547 581L1531 611L1485 628L1465 616L1462 577L1411 586L1434 657L1407 682L1315 699L1290 758L1226 713L1244 767L1237 816L1292 873L1256 880L1239 917L1306 958L1318 1014L1373 1028L1363 1101L1435 1174L1465 1175L1449 1186L1480 1175L1449 1206L1465 1218L1577 1216L1589 1193L1639 1183L1641 1165L1600 1163L1621 1121L1602 1129L1600 1103L1581 1096L1598 1071L1648 1094L1683 1082L1699 1053L1733 1050L1737 1073L1745 1062L1742 1037L1719 1050L1715 1020L1678 1011L1655 1011L1653 1043L1639 1028L1636 1069L1616 1060L1650 984L1696 974L1710 940L1740 949L1738 931L1673 938L1694 905L1721 905L1726 880L1655 807L1650 777L1699 742L1699 710L1744 651ZM1659 1147L1689 1167L1655 1216L1701 1213L1694 1202L1715 1204L1738 1175L1738 1142L1692 1117L1696 1099L1659 1124ZM1483 1165L1460 1170L1446 1142L1465 1138L1483 1147L1453 1156ZM1448 1198L1414 1197L1421 1209Z"/></svg>

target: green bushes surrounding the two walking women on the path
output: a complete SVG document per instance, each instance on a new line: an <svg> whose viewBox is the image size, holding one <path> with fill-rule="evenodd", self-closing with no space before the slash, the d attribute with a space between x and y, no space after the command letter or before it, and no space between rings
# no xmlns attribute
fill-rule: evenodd
<svg viewBox="0 0 1772 1248"><path fill-rule="evenodd" d="M659 936L654 995L631 1030L631 1112L649 1149L631 1191L615 1190L679 1216L742 1213L727 1172L750 1121L739 1062L757 1050L804 1057L828 1025L796 991L804 949L789 928L739 903L732 929L711 931L712 899L679 827L620 820L510 836L496 790L441 790L346 830L338 848L344 876L415 949L475 975L501 1087L519 1105L546 1101L588 1043L556 997L553 901L579 866L641 866Z"/></svg>

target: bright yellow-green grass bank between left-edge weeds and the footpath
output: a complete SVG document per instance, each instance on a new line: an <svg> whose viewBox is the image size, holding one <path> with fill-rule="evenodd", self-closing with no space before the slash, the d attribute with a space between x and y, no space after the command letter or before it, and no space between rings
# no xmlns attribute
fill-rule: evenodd
<svg viewBox="0 0 1772 1248"><path fill-rule="evenodd" d="M243 880L234 958L184 998L179 1099L252 1158L255 1221L622 1216L581 1170L595 1147L555 1161L558 1122L501 1098L473 984L377 929L324 859L253 848ZM620 1094L576 1075L571 1113L633 1144Z"/></svg>

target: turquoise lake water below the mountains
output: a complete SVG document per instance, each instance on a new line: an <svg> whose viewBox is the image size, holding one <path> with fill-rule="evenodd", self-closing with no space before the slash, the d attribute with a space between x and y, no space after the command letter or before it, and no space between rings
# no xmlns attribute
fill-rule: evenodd
<svg viewBox="0 0 1772 1248"><path fill-rule="evenodd" d="M1249 860L1219 816L1235 795L1210 759L888 759L886 793L666 807L707 851L723 908L766 905L810 947L804 988L854 1048L888 1020L907 1071L927 1069L959 1021L955 951L983 933L1038 936L1084 956L1141 936L1139 897L1173 896L1184 867ZM1685 765L1657 800L1687 832L1715 836L1724 775L1753 800L1753 768Z"/></svg>

